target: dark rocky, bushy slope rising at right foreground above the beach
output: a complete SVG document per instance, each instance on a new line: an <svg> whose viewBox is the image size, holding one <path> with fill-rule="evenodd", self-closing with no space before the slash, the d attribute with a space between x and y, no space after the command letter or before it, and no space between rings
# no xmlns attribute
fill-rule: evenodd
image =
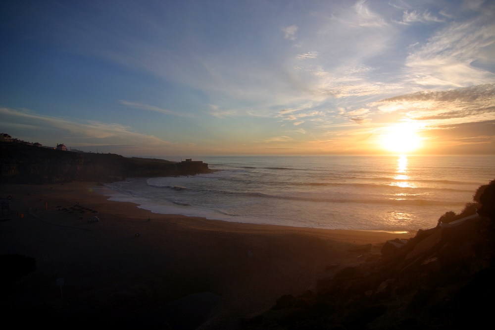
<svg viewBox="0 0 495 330"><path fill-rule="evenodd" d="M381 256L363 254L364 263L320 279L316 292L280 297L244 328L443 330L491 324L494 196L495 180L478 204L481 216L439 223L407 242L388 241Z"/></svg>

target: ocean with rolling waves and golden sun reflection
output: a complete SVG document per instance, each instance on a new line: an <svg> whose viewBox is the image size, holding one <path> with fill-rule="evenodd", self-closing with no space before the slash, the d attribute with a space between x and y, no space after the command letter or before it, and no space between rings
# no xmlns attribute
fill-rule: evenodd
<svg viewBox="0 0 495 330"><path fill-rule="evenodd" d="M158 157L155 157L158 158ZM164 158L168 160L177 160ZM128 178L111 200L159 214L295 227L414 231L459 213L495 156L205 156L210 174Z"/></svg>

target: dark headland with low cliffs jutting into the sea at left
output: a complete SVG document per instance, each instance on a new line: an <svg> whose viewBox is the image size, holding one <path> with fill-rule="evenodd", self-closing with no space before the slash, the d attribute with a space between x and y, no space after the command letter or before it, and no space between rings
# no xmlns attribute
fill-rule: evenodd
<svg viewBox="0 0 495 330"><path fill-rule="evenodd" d="M0 143L3 183L115 181L123 177L194 175L209 172L202 162L126 158L116 154L73 153L17 143Z"/></svg>

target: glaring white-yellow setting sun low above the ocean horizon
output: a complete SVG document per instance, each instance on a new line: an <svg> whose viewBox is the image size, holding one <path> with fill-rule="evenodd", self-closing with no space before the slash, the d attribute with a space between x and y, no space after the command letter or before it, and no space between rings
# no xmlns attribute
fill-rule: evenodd
<svg viewBox="0 0 495 330"><path fill-rule="evenodd" d="M388 151L403 154L418 149L421 139L414 127L396 125L388 127L387 133L382 138L382 145Z"/></svg>

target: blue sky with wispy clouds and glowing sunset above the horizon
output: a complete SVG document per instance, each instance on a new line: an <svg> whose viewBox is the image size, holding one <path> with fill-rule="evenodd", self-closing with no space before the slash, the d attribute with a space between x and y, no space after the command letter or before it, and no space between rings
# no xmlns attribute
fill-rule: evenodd
<svg viewBox="0 0 495 330"><path fill-rule="evenodd" d="M0 1L0 131L123 156L495 154L495 1Z"/></svg>

